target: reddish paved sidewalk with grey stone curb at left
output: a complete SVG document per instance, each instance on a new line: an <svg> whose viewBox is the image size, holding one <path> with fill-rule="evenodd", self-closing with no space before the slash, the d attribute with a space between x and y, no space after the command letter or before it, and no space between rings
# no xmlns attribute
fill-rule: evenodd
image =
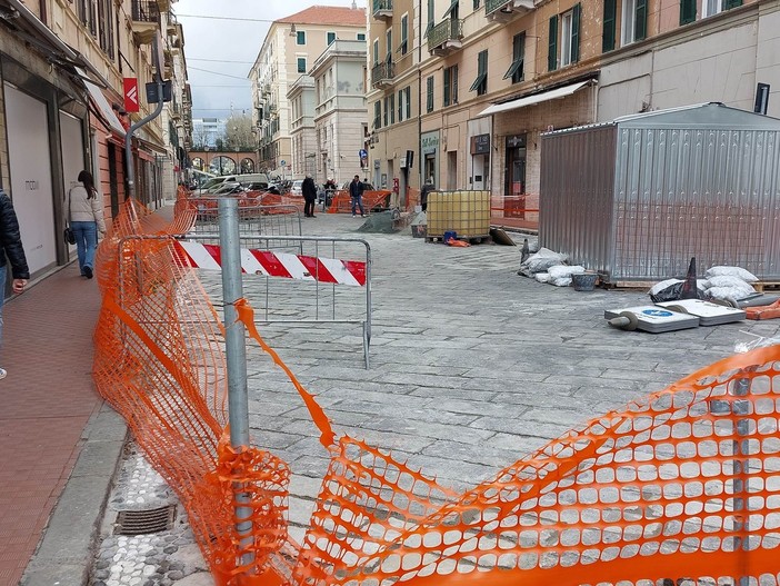
<svg viewBox="0 0 780 586"><path fill-rule="evenodd" d="M92 383L99 307L97 281L71 264L3 308L0 586L26 568L30 586L81 584L91 563L127 433Z"/></svg>

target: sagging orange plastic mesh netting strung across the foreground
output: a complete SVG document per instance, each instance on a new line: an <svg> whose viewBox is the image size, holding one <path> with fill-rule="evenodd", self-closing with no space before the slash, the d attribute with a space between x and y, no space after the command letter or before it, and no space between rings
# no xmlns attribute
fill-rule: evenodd
<svg viewBox="0 0 780 586"><path fill-rule="evenodd" d="M228 446L223 325L196 271L173 262L176 231L128 202L101 244L94 377L181 498L217 584L780 583L779 346L716 362L456 494L334 433L239 300L331 454L311 528L292 543L289 467ZM249 535L234 526L237 490Z"/></svg>

